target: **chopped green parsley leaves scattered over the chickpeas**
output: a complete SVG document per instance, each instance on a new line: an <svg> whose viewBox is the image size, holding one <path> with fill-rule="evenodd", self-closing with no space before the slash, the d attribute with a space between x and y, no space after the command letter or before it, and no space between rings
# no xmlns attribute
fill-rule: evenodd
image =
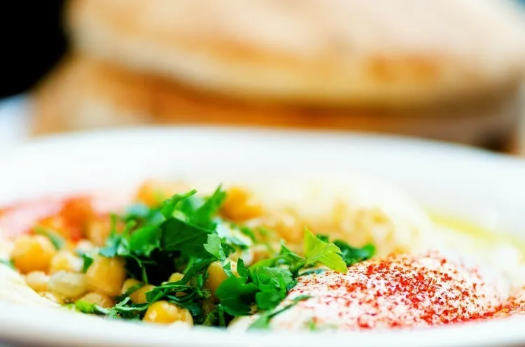
<svg viewBox="0 0 525 347"><path fill-rule="evenodd" d="M155 207L134 204L123 215L113 215L111 233L98 253L122 257L128 276L140 283L116 297L117 304L109 309L82 300L71 309L140 320L153 303L165 300L188 309L197 325L225 327L237 316L258 313L251 329L266 328L274 316L308 298L300 296L281 306L298 277L325 269L346 272L348 266L374 253L372 246L352 248L340 240L330 243L305 227L301 255L281 244L278 253L272 251L267 259L246 266L239 255L252 245L269 243L275 233L221 218L225 199L226 192L219 186L209 197L191 190L174 194ZM35 231L48 236L57 248L64 246L56 233L38 227ZM94 262L94 254L79 255L85 272ZM212 295L207 283L208 269L214 262L226 276ZM180 273L180 279L167 281L174 273ZM146 284L154 286L145 293L146 302L132 302L130 295Z"/></svg>

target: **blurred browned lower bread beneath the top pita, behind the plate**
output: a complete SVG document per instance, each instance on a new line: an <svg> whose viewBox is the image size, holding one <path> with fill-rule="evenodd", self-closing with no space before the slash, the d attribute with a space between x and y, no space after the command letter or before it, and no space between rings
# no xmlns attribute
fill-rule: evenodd
<svg viewBox="0 0 525 347"><path fill-rule="evenodd" d="M424 108L328 108L226 98L99 59L65 59L34 92L34 134L143 124L336 129L489 146L516 127L519 88ZM496 141L495 140L495 141Z"/></svg>

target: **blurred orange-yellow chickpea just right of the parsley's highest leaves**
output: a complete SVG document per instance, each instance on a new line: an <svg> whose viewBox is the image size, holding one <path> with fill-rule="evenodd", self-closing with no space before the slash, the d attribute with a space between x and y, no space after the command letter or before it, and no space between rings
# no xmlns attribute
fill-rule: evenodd
<svg viewBox="0 0 525 347"><path fill-rule="evenodd" d="M251 192L240 187L231 187L221 208L226 218L235 221L244 221L258 218L264 211L258 201L255 201Z"/></svg>

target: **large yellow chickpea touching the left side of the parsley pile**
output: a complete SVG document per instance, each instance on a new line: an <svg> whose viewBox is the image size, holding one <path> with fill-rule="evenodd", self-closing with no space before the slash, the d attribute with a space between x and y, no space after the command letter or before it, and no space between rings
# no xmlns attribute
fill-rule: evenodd
<svg viewBox="0 0 525 347"><path fill-rule="evenodd" d="M126 279L125 262L119 257L97 257L87 269L87 285L92 292L100 292L110 297L120 293Z"/></svg>

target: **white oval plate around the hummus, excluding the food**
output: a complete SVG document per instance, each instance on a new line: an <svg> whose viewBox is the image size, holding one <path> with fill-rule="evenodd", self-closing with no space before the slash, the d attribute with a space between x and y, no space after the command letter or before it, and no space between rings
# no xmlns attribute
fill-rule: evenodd
<svg viewBox="0 0 525 347"><path fill-rule="evenodd" d="M376 176L427 208L525 238L524 162L459 146L357 134L178 127L42 139L3 156L0 204L49 192L129 186L151 176L220 181L323 173ZM1 303L0 340L48 346L503 346L525 344L525 318L329 336L233 334Z"/></svg>

